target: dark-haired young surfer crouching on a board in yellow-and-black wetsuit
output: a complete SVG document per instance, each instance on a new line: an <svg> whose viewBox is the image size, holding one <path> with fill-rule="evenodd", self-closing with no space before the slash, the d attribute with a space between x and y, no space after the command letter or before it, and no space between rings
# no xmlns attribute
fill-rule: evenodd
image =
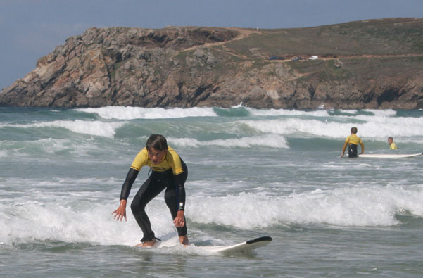
<svg viewBox="0 0 423 278"><path fill-rule="evenodd" d="M146 214L145 207L163 189L166 189L165 203L172 215L173 223L179 235L179 242L187 245L189 242L187 237L187 222L184 217L184 184L187 180L188 169L177 152L168 146L168 141L166 141L163 135L151 134L146 142L146 147L139 151L132 162L125 182L122 184L119 207L112 213L115 220L122 221L125 218L125 221L127 221L127 198L130 195L132 184L137 178L139 170L146 165L151 168L151 175L142 184L131 203L132 214L144 234L141 244L137 244L137 246L153 246L159 240L151 229L151 223Z"/></svg>

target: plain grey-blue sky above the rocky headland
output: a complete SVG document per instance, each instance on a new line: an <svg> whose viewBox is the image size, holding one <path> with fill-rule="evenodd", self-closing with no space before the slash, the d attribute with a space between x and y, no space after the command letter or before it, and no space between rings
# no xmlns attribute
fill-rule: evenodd
<svg viewBox="0 0 423 278"><path fill-rule="evenodd" d="M0 0L0 89L89 27L295 28L423 18L422 0Z"/></svg>

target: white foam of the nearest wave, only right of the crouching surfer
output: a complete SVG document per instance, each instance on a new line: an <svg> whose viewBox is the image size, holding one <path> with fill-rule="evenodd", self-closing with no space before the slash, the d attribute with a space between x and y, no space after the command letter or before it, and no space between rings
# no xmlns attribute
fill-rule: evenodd
<svg viewBox="0 0 423 278"><path fill-rule="evenodd" d="M187 215L195 222L243 229L289 223L391 226L399 224L395 214L403 210L423 216L422 198L422 189L391 186L317 189L280 198L241 193L237 196L196 197L187 206L190 208ZM213 213L208 208L213 208Z"/></svg>

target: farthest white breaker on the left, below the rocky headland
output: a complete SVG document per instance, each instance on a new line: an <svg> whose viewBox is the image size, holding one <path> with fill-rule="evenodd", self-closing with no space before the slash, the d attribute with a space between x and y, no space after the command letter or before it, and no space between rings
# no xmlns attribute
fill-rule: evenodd
<svg viewBox="0 0 423 278"><path fill-rule="evenodd" d="M101 108L78 108L85 113L95 113L104 119L132 120L132 119L167 119L186 117L215 117L213 108L142 108L107 106Z"/></svg>

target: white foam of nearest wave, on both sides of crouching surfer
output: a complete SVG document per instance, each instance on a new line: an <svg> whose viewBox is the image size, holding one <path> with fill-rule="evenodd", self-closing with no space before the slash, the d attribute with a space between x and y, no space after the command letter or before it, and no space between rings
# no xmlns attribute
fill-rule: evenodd
<svg viewBox="0 0 423 278"><path fill-rule="evenodd" d="M96 181L87 179L77 183L89 187L93 182ZM118 201L110 199L118 196L118 189L96 191L95 194L92 191L63 191L70 183L75 181L41 181L33 184L29 191L4 198L0 204L1 241L4 244L34 240L137 244L141 231L129 208L128 222L116 222L111 215ZM114 183L116 180L101 181L103 187L114 187ZM0 194L8 195L3 190ZM396 213L406 211L423 217L422 198L423 187L390 185L315 189L279 197L269 196L265 191L220 197L197 195L187 199L186 215L188 222L240 229L289 224L389 227L400 224ZM153 199L146 211L156 236L175 234L162 198Z"/></svg>

